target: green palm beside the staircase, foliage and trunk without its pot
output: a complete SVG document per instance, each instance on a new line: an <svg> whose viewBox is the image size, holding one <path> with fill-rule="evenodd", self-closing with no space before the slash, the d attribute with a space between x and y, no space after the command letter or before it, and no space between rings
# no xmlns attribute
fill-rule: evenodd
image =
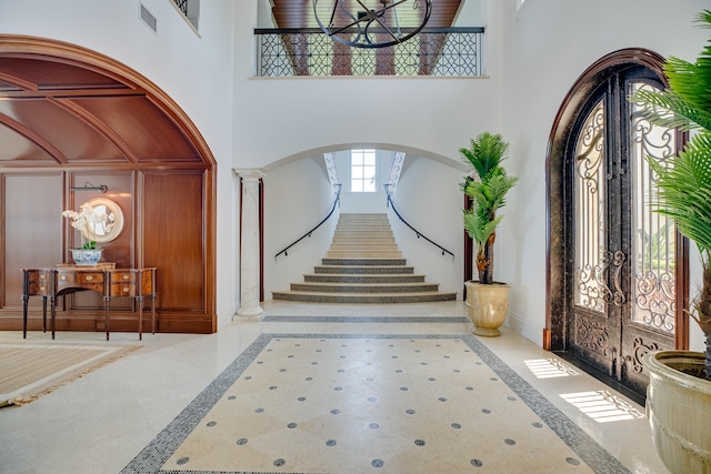
<svg viewBox="0 0 711 474"><path fill-rule="evenodd" d="M471 148L459 152L468 160L477 177L468 175L460 184L462 191L472 199L464 209L464 229L477 243L477 270L479 283L493 283L493 244L497 226L503 215L497 211L505 204L505 194L518 182L501 167L508 157L509 143L501 134L483 132L471 140ZM475 179L478 178L478 179Z"/></svg>

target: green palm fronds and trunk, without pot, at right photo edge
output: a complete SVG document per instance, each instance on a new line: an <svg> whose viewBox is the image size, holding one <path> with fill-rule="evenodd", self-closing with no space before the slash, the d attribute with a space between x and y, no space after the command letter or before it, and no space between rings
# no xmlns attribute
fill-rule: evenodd
<svg viewBox="0 0 711 474"><path fill-rule="evenodd" d="M699 13L697 22L711 28L711 11ZM670 57L664 74L664 91L639 90L630 100L641 104L642 114L654 124L693 131L669 165L647 161L659 178L657 212L670 216L701 253L703 284L691 317L704 333L705 373L711 380L711 41L694 62Z"/></svg>

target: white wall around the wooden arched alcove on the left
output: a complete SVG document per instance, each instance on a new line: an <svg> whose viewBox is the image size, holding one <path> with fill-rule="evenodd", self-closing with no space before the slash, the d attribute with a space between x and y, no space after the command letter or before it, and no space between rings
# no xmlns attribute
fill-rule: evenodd
<svg viewBox="0 0 711 474"><path fill-rule="evenodd" d="M217 177L216 281L222 324L239 304L239 292L234 291L239 239L233 233L234 216L239 214L230 171L232 42L238 2L201 2L199 36L172 1L141 2L158 19L157 33L140 20L138 0L0 0L0 31L67 41L121 61L166 91L196 123L221 171Z"/></svg>

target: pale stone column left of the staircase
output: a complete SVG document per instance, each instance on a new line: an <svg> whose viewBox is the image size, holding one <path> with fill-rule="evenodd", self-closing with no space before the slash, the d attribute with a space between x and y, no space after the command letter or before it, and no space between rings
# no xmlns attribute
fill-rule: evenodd
<svg viewBox="0 0 711 474"><path fill-rule="evenodd" d="M242 181L240 225L240 309L238 316L259 316L260 250L259 250L259 170L234 170Z"/></svg>

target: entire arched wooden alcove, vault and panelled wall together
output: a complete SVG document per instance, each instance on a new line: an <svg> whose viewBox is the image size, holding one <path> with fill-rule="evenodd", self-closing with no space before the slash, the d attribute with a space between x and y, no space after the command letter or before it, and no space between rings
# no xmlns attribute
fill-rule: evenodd
<svg viewBox="0 0 711 474"><path fill-rule="evenodd" d="M158 268L158 330L214 332L214 172L194 124L138 72L73 44L0 34L0 330L21 329L22 268L70 261L79 233L61 211L102 196L124 216L102 260ZM87 182L108 192L71 190ZM30 303L38 330L41 305ZM97 294L59 303L59 330L103 330ZM111 306L112 330L136 331L132 300Z"/></svg>

